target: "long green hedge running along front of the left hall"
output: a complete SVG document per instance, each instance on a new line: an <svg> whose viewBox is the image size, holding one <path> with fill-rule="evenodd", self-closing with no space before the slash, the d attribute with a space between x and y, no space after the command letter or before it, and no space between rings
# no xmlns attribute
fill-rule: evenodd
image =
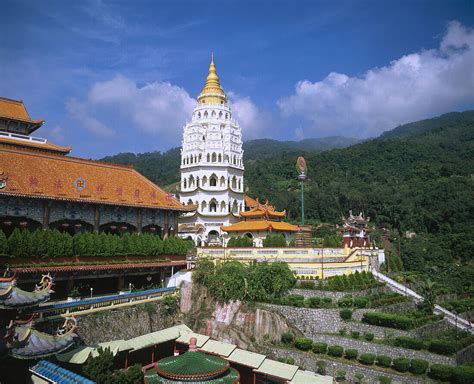
<svg viewBox="0 0 474 384"><path fill-rule="evenodd" d="M71 256L185 255L192 246L190 241L176 236L170 236L166 240L145 233L126 233L118 236L102 232L78 233L72 236L56 229L30 232L16 228L6 242L7 249L0 250L0 253L10 257L43 259Z"/></svg>

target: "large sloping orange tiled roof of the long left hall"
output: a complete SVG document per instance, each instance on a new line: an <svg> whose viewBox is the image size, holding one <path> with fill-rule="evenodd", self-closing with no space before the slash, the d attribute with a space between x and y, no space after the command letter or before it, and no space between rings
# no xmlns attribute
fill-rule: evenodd
<svg viewBox="0 0 474 384"><path fill-rule="evenodd" d="M0 147L0 195L190 211L131 167Z"/></svg>

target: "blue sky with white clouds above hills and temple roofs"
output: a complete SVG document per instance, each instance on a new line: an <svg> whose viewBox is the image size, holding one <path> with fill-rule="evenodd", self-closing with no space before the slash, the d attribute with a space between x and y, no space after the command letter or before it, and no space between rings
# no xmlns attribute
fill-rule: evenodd
<svg viewBox="0 0 474 384"><path fill-rule="evenodd" d="M165 151L212 52L244 140L474 109L472 0L2 0L0 96L75 156Z"/></svg>

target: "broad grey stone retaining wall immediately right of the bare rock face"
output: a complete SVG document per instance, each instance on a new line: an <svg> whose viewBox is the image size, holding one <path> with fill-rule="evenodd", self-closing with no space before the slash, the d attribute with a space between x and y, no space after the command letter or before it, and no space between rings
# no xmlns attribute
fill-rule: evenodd
<svg viewBox="0 0 474 384"><path fill-rule="evenodd" d="M280 313L306 337L313 337L319 333L337 333L340 329L346 328L350 331L361 333L370 332L376 337L385 336L409 336L410 332L398 329L378 327L375 325L358 323L356 321L344 321L339 315L339 309L313 309L297 308L284 305L264 304L266 307ZM362 318L368 309L358 309L354 311L354 319Z"/></svg>

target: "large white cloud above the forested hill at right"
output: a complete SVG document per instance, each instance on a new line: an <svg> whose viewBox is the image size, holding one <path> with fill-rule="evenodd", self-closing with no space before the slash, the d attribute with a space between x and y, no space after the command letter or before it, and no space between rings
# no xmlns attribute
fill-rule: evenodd
<svg viewBox="0 0 474 384"><path fill-rule="evenodd" d="M283 116L308 121L307 137L376 136L398 124L472 105L473 68L474 31L451 22L438 49L403 56L360 77L332 72L321 81L300 81L278 106Z"/></svg>

